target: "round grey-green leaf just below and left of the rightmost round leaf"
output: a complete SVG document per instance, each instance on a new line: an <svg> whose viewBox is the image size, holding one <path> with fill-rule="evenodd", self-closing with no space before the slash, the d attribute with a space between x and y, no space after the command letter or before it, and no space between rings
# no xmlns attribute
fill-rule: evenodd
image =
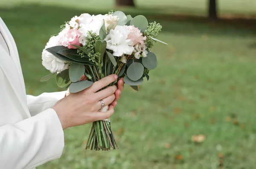
<svg viewBox="0 0 256 169"><path fill-rule="evenodd" d="M144 66L139 62L133 62L126 71L129 79L133 81L139 80L142 77L143 72Z"/></svg>

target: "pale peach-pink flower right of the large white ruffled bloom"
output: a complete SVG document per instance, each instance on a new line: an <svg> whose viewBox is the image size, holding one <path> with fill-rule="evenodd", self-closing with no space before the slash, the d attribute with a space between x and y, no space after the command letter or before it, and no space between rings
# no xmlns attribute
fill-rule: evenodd
<svg viewBox="0 0 256 169"><path fill-rule="evenodd" d="M131 39L131 41L133 42L132 46L135 46L137 43L144 45L144 40L146 40L147 37L143 37L140 30L138 28L135 28L134 25L130 25L127 28L130 31L127 39Z"/></svg>

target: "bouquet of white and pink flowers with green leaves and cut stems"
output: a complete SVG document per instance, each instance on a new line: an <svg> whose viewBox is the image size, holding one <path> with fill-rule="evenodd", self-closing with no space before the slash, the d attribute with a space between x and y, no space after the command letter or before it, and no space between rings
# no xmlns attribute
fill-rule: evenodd
<svg viewBox="0 0 256 169"><path fill-rule="evenodd" d="M151 52L162 26L149 23L138 15L131 17L122 11L105 15L81 14L61 25L61 31L52 35L42 52L42 64L56 74L59 87L76 93L110 74L134 90L149 79L148 72L157 67L157 57ZM165 42L162 42L165 43ZM166 44L166 43L165 43ZM87 80L79 80L86 76ZM116 85L117 81L111 85ZM107 111L108 105L99 111ZM93 122L86 149L118 149L109 119Z"/></svg>

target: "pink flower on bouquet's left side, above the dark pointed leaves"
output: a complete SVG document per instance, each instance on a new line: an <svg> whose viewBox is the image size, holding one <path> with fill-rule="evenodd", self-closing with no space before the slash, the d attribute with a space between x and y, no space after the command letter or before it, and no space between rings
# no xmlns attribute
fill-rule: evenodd
<svg viewBox="0 0 256 169"><path fill-rule="evenodd" d="M79 43L80 36L81 33L77 29L70 29L69 31L67 31L66 34L61 36L61 38L59 39L59 43L62 46L67 46L67 48L69 49L77 49L73 45L81 46L81 44Z"/></svg>

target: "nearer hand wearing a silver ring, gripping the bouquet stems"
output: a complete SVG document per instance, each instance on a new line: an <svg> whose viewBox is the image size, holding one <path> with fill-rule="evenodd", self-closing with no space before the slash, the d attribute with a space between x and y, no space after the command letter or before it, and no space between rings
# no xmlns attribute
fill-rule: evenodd
<svg viewBox="0 0 256 169"><path fill-rule="evenodd" d="M93 85L87 89L78 93L72 93L58 101L52 108L56 111L63 130L68 127L103 120L113 115L113 105L109 106L107 112L99 112L102 108L102 104L99 100L103 100L105 105L109 105L115 100L115 92L117 89L115 85L109 86L104 90L100 89L111 84L116 79L116 75L109 75L94 82Z"/></svg>

